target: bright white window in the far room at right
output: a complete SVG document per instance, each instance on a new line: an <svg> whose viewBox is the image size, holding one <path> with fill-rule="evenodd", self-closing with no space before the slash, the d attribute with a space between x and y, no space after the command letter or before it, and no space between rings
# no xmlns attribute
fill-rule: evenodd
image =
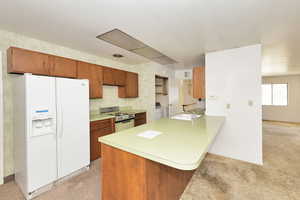
<svg viewBox="0 0 300 200"><path fill-rule="evenodd" d="M288 84L263 84L262 105L287 106Z"/></svg>

